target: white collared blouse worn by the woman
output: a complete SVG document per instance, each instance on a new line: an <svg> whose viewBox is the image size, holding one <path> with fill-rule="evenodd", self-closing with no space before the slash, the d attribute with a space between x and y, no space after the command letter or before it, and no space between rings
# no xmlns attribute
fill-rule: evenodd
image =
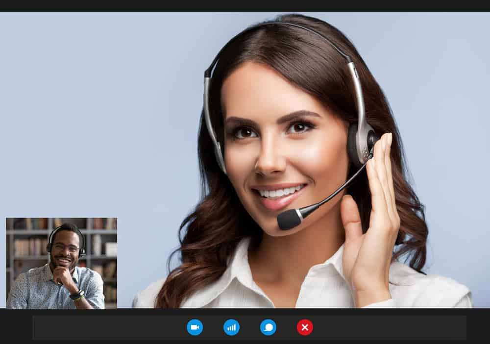
<svg viewBox="0 0 490 344"><path fill-rule="evenodd" d="M243 239L223 275L184 299L181 308L274 308L274 303L253 281L248 264L249 243L250 238ZM310 268L301 284L295 308L355 307L343 275L343 247L323 264ZM403 263L392 262L389 280L392 298L365 308L473 307L470 290L447 277L424 275ZM133 300L133 307L153 308L164 282L162 278L140 291Z"/></svg>

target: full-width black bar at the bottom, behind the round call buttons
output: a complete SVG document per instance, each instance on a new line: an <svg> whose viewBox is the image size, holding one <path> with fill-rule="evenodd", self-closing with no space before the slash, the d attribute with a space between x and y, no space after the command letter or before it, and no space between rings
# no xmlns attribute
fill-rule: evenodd
<svg viewBox="0 0 490 344"><path fill-rule="evenodd" d="M107 309L107 310L6 310L0 309L4 336L16 342L40 343L58 340L107 340L141 342L172 340L182 343L238 340L323 341L325 339L353 339L414 342L417 339L443 339L444 341L472 341L488 336L490 308L386 308L386 309ZM190 319L199 319L203 331L199 336L187 333ZM238 335L228 337L223 332L227 319L236 319L241 325ZM264 336L259 324L272 319L276 333ZM297 322L309 319L313 332L300 336ZM379 337L376 334L379 333ZM115 337L114 337L115 336ZM376 339L375 339L376 338Z"/></svg>

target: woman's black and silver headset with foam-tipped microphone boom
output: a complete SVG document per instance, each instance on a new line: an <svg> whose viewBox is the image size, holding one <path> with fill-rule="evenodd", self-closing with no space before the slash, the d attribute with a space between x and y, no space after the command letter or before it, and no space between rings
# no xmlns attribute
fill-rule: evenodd
<svg viewBox="0 0 490 344"><path fill-rule="evenodd" d="M215 147L215 156L216 160L218 162L218 165L221 168L221 171L226 174L226 167L224 164L224 159L223 159L223 154L221 151L221 145L220 142L218 142L216 138L216 134L213 130L213 126L211 123L211 115L210 115L210 110L209 110L209 88L210 88L210 83L211 83L211 73L216 66L221 52L230 45L237 37L240 37L246 32L250 32L251 30L255 30L259 27L264 27L268 25L283 25L283 26L294 26L301 28L303 30L309 31L320 38L322 38L324 41L326 41L333 49L335 49L342 57L345 59L345 63L347 64L347 67L350 71L350 75L352 77L352 81L354 83L354 89L356 93L356 107L357 107L357 112L358 112L358 121L357 123L351 123L349 125L349 130L348 130L348 137L347 137L347 152L349 155L350 161L354 164L356 168L359 170L350 177L349 180L347 180L339 189L337 189L332 195L329 197L323 199L322 201L303 207L303 208L297 208L297 209L290 209L285 212L280 213L277 216L277 222L279 225L279 228L282 230L288 230L292 229L298 224L300 224L304 218L306 218L308 215L310 215L313 211L319 208L322 204L328 202L330 199L335 197L339 192L341 192L344 188L346 188L356 176L359 175L359 173L366 167L366 164L368 163L368 160L372 158L373 156L373 148L374 144L376 141L379 140L379 137L375 134L374 129L368 124L366 121L366 114L365 114L365 109L364 109L364 98L363 98L363 93L362 93L362 88L361 88L361 83L359 81L359 74L357 73L356 67L354 65L354 62L352 61L352 58L344 53L342 49L340 49L337 45L335 45L332 41L330 41L327 37L325 37L323 34L310 29L308 27L302 26L302 25L297 25L294 23L288 23L288 22L268 22L268 23L261 23L257 25L252 25L243 30L242 32L238 33L235 35L226 45L224 45L223 48L218 52L216 57L214 58L213 62L209 66L209 68L204 72L204 106L203 106L203 112L204 112L204 119L206 121L206 126L209 132L209 135L211 136L211 140L213 141L214 147Z"/></svg>

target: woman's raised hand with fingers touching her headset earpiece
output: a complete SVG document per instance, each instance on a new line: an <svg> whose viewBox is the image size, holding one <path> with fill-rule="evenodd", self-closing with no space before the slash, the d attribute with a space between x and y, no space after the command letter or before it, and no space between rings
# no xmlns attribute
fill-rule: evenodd
<svg viewBox="0 0 490 344"><path fill-rule="evenodd" d="M356 307L391 298L388 278L400 228L393 191L391 144L392 134L384 134L374 145L374 157L366 166L372 205L366 234L362 232L354 199L345 195L341 202L345 229L343 272L352 288Z"/></svg>

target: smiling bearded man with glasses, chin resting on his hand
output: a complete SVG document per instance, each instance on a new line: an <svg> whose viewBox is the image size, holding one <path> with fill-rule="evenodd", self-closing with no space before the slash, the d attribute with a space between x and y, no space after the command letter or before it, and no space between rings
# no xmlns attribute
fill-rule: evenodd
<svg viewBox="0 0 490 344"><path fill-rule="evenodd" d="M98 272L80 268L84 241L78 228L63 223L48 245L50 262L21 273L7 299L7 309L104 308L103 282Z"/></svg>

